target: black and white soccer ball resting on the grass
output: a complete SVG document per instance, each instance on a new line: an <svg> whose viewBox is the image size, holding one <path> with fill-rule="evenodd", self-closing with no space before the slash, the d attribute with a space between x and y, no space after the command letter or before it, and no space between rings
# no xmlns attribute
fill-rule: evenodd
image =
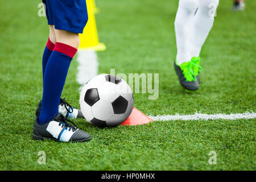
<svg viewBox="0 0 256 182"><path fill-rule="evenodd" d="M98 75L82 88L80 107L86 121L99 127L123 123L133 110L130 86L114 75Z"/></svg>

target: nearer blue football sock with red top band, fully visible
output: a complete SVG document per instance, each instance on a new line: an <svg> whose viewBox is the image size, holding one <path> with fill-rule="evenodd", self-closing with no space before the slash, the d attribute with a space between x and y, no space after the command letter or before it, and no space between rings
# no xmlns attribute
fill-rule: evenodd
<svg viewBox="0 0 256 182"><path fill-rule="evenodd" d="M60 96L68 74L68 68L77 49L57 43L49 57L43 80L43 100L39 123L43 124L59 113Z"/></svg>

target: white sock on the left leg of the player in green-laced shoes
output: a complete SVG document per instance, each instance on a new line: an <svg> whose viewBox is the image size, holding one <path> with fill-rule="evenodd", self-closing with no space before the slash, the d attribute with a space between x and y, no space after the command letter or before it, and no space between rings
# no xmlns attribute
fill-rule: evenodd
<svg viewBox="0 0 256 182"><path fill-rule="evenodd" d="M177 64L191 60L190 40L191 23L199 7L199 0L180 0L175 19L175 34L177 45Z"/></svg>

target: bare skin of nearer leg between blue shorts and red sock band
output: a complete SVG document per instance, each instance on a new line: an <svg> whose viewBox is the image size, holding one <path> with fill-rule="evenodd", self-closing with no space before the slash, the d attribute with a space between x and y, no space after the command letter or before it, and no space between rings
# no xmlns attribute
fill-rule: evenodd
<svg viewBox="0 0 256 182"><path fill-rule="evenodd" d="M55 35L56 42L68 44L69 46L75 47L76 49L79 47L79 34L65 30L55 29Z"/></svg>

